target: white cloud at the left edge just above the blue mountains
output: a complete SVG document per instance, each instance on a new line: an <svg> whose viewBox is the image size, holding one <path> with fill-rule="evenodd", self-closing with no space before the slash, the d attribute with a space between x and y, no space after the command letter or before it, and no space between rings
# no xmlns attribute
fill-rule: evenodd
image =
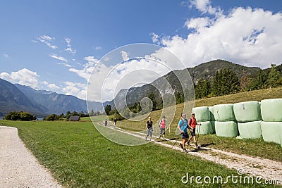
<svg viewBox="0 0 282 188"><path fill-rule="evenodd" d="M11 72L11 74L8 74L6 72L0 73L0 77L4 80L7 80L8 82L27 85L34 89L39 89L39 75L37 75L36 72L28 70L27 68L23 68L21 70L18 70L17 72Z"/></svg>

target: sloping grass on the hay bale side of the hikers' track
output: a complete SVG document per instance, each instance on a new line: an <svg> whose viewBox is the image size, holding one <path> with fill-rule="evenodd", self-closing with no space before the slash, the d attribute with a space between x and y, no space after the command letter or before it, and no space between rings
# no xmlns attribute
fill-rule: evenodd
<svg viewBox="0 0 282 188"><path fill-rule="evenodd" d="M214 106L216 104L235 104L243 101L262 101L264 99L276 99L282 98L282 87L261 89L252 92L241 92L238 94L230 94L226 96L217 96L207 99L195 100L195 107L198 106ZM183 112L184 104L176 105L176 115L171 123L171 132L166 130L167 138L177 137L176 127L180 119L180 114ZM185 112L189 117L190 112ZM153 111L149 114L152 117L153 123L159 122L161 119L161 110ZM130 120L123 120L117 123L118 127L124 130L142 131L146 129L145 120L134 122ZM155 131L159 131L158 127L155 127ZM255 156L262 158L269 158L275 161L282 162L282 149L279 144L264 142L260 139L235 139L228 137L216 137L216 134L200 135L200 144L207 144L214 149L221 149L224 151L231 151L233 153L245 154L247 156Z"/></svg>

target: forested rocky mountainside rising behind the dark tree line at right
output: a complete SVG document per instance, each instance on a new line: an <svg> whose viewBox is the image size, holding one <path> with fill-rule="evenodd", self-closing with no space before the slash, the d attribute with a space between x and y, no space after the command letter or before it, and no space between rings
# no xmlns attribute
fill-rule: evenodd
<svg viewBox="0 0 282 188"><path fill-rule="evenodd" d="M214 75L217 70L223 69L223 68L230 68L233 70L233 72L239 77L242 77L243 71L248 77L255 77L257 75L258 71L261 70L260 68L249 68L245 67L243 65L238 65L235 63L231 63L228 61L223 60L215 60L215 61L209 61L207 63L202 63L200 65L197 65L195 68L188 68L188 71L190 73L192 82L197 83L197 80L200 78L202 79L209 79L213 80ZM177 74L177 75L176 75ZM164 75L163 77L159 77L157 80L154 80L151 84L145 84L142 87L132 87L130 89L123 89L116 95L115 103L120 103L119 105L124 105L125 101L121 101L123 96L126 94L126 104L129 106L134 104L137 101L140 101L142 98L149 96L150 93L154 93L156 96L156 100L159 100L159 104L161 104L161 94L173 94L179 92L180 94L183 94L183 89L181 87L181 84L179 82L178 77L182 77L181 75L185 74L185 70L175 70L171 71L170 73ZM171 85L173 91L167 90L164 87L162 87L162 84L164 83L164 80L167 80L169 84ZM188 90L192 90L193 83L191 80L181 80L187 85ZM158 86L159 91L156 89ZM112 108L115 108L114 100L109 103Z"/></svg>

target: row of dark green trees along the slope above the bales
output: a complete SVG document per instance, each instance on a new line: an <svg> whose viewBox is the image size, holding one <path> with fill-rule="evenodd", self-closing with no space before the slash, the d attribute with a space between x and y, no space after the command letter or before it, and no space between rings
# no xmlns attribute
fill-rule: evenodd
<svg viewBox="0 0 282 188"><path fill-rule="evenodd" d="M259 70L257 75L251 78L243 71L240 80L233 70L223 68L216 72L212 82L201 78L194 87L195 99L202 99L279 86L282 86L282 73L277 70L275 64L271 64L270 73Z"/></svg>

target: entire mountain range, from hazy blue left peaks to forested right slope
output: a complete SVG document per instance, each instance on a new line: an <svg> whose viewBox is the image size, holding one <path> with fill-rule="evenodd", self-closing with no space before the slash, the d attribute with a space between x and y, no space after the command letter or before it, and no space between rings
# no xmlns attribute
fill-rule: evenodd
<svg viewBox="0 0 282 188"><path fill-rule="evenodd" d="M192 82L197 84L200 78L212 81L216 71L222 68L231 68L239 79L243 73L248 77L256 77L259 70L261 70L260 68L246 67L223 60L209 61L197 65L194 68L187 68L186 70L189 71ZM282 65L277 66L277 68L279 70L282 69ZM177 92L181 92L182 88L178 77L181 77L181 74L187 73L186 70L171 71L163 77L154 80L151 84L145 84L142 87L122 89L116 95L115 100L105 102L104 104L93 101L88 103L88 107L93 109L93 111L104 111L102 106L106 106L106 104L110 104L112 109L116 105L121 108L125 103L128 105L134 104L145 96L149 96L150 93L154 93L156 99L159 99L158 96L160 95L176 94ZM263 71L269 72L270 68ZM167 89L164 84L166 80L171 85L170 89ZM192 86L192 82L189 79L181 81ZM155 86L161 86L161 89L158 91ZM126 96L126 101L120 100L124 96ZM0 79L0 115L4 115L10 111L27 111L37 116L44 116L51 113L61 114L67 111L83 111L87 113L87 104L85 100L78 99L75 96L57 94L56 92L45 90L35 90L28 86L11 84L6 80Z"/></svg>

